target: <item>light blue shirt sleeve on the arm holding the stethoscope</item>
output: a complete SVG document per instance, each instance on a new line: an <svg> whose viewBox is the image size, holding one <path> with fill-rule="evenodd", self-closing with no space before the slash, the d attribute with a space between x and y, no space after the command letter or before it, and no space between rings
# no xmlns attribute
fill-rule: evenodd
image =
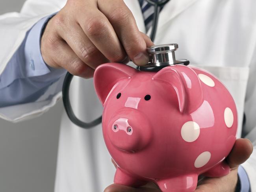
<svg viewBox="0 0 256 192"><path fill-rule="evenodd" d="M66 73L46 65L41 55L41 33L54 14L42 18L27 33L0 76L0 107L33 102Z"/></svg>

